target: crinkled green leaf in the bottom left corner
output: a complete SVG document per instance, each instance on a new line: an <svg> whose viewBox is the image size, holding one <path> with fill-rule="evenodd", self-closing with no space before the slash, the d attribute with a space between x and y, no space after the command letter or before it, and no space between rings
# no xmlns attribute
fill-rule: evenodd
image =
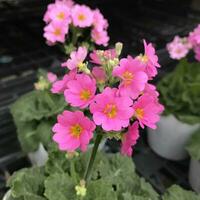
<svg viewBox="0 0 200 200"><path fill-rule="evenodd" d="M11 194L14 198L28 199L28 196L43 195L44 179L43 168L25 168L14 173L7 185L11 187ZM37 198L39 200L39 197Z"/></svg>

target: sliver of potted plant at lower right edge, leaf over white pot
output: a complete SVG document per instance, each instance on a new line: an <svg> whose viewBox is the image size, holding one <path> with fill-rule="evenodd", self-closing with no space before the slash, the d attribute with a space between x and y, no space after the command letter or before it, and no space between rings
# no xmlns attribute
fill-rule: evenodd
<svg viewBox="0 0 200 200"><path fill-rule="evenodd" d="M191 136L187 145L187 151L191 157L189 182L192 188L200 193L200 130Z"/></svg>

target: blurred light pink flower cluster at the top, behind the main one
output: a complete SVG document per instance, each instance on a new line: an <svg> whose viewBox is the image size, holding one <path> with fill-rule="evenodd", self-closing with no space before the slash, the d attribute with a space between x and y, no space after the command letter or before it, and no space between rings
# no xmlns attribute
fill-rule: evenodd
<svg viewBox="0 0 200 200"><path fill-rule="evenodd" d="M95 44L108 44L108 22L98 9L92 10L72 0L56 0L48 5L43 19L46 23L44 37L49 45L64 43L67 37L70 42L76 43L77 37L83 37L87 28L90 28Z"/></svg>

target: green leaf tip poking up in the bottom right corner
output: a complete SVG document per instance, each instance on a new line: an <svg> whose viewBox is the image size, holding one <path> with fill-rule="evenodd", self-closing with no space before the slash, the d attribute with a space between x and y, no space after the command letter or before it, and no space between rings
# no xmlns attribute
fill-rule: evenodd
<svg viewBox="0 0 200 200"><path fill-rule="evenodd" d="M162 200L200 200L200 195L192 191L184 190L178 185L174 185L167 190Z"/></svg>

